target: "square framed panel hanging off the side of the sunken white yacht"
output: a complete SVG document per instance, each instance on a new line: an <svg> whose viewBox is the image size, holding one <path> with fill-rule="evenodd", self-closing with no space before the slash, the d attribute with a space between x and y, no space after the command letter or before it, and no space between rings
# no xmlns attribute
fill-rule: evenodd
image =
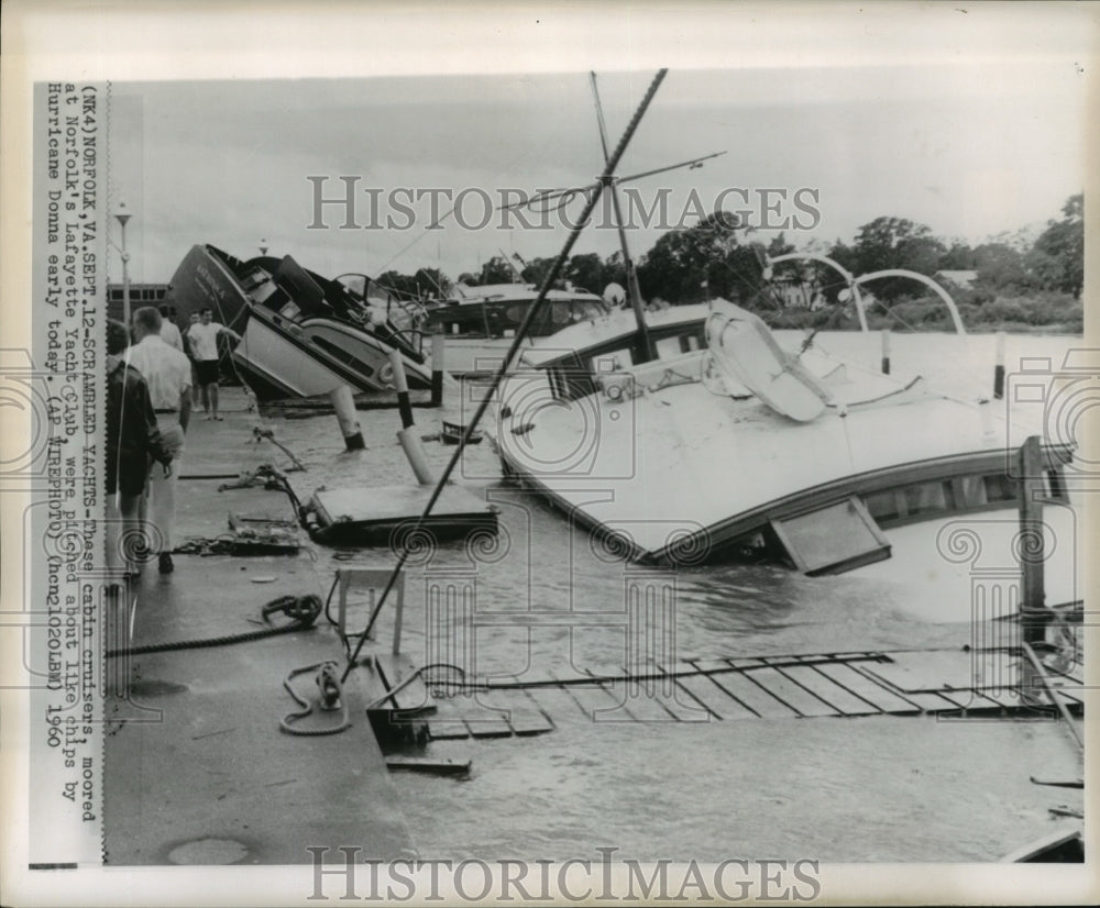
<svg viewBox="0 0 1100 908"><path fill-rule="evenodd" d="M771 521L799 571L843 574L890 557L890 543L856 496Z"/></svg>

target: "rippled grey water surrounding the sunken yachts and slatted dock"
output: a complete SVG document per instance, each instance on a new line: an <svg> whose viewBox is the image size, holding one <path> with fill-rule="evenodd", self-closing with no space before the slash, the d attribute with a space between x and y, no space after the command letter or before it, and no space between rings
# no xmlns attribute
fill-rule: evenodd
<svg viewBox="0 0 1100 908"><path fill-rule="evenodd" d="M815 343L878 367L877 337L821 334ZM1075 343L1012 336L1010 372L1021 355L1057 367ZM991 336L895 335L892 358L895 374L922 372L959 397L991 392ZM468 408L457 397L442 411L417 409L425 434L437 432L440 419L462 419ZM276 438L308 466L292 475L300 497L322 485L414 481L395 438L397 412L359 416L367 450L355 453L342 450L332 416L271 420ZM453 449L426 446L438 475ZM466 457L466 475L488 477L469 485L499 509L501 533L409 558L403 649L414 662L428 646L425 591L440 577L464 578L477 612L586 616L572 627L509 627L506 618L479 627L473 658L487 678L622 666L626 598L647 584L674 589L664 653L672 660L949 650L971 641L969 602L926 602L922 612L920 580L903 565L894 576L887 566L875 577L823 578L767 565L639 567L501 479L488 442ZM343 564L392 567L396 560L385 547L322 547L319 557L326 580ZM1050 830L1048 808L1082 802L1079 790L1028 780L1080 773L1071 741L1050 721L593 721L535 738L436 741L429 753L473 761L469 780L393 777L414 840L432 857L595 860L595 849L615 848L617 856L649 860L989 861Z"/></svg>

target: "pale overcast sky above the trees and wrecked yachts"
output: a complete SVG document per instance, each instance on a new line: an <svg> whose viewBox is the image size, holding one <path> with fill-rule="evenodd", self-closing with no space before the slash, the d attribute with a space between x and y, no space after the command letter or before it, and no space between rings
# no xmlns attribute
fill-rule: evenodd
<svg viewBox="0 0 1100 908"><path fill-rule="evenodd" d="M721 152L701 168L631 184L637 199L651 208L666 193L669 222L690 225L698 210L693 197L707 210L724 198L727 209L749 210L759 223L761 190L772 190L762 199L772 206L767 217L796 218L785 236L799 247L850 242L880 215L971 244L1058 218L1086 178L1086 36L1078 48L1071 30L1018 27L982 34L970 46L956 36L957 46L930 53L919 40L927 31L914 30L912 47L902 43L898 53L867 54L857 53L864 45L856 37L846 43L843 29L789 30L788 51L815 53L673 66L618 174ZM600 55L592 56L596 64ZM656 68L596 67L612 145ZM264 245L328 276L428 266L457 278L501 252L552 256L565 239L560 218L549 219L553 229L524 229L517 215L488 214L483 200L584 186L603 169L588 70L580 66L114 80L110 143L111 204L124 202L134 213L131 275L148 281L168 280L196 243L241 257ZM333 198L345 191L340 177L354 178L356 229L341 229L343 208L316 213L315 182ZM452 218L442 230L426 230L432 212L424 198L413 206L415 222L396 229L408 218L387 199L405 189L451 198L465 189L463 223ZM369 190L377 193L376 214ZM804 208L794 207L800 190ZM446 212L447 197L437 198L437 212ZM575 219L579 210L574 202L565 213ZM364 229L372 218L384 226L387 215L395 229ZM476 229L486 217L491 223ZM618 248L609 214L597 222L603 229L582 233L574 254ZM640 257L662 232L630 230L631 253ZM777 232L761 229L758 236Z"/></svg>

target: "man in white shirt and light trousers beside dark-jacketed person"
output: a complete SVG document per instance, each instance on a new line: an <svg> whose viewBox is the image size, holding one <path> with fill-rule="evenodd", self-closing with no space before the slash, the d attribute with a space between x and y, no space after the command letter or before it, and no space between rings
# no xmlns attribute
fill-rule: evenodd
<svg viewBox="0 0 1100 908"><path fill-rule="evenodd" d="M191 414L191 364L180 351L164 342L161 315L153 307L134 312L133 323L136 343L127 351L127 363L142 374L148 386L161 440L172 453L175 466L167 477L162 470L152 472L140 513L156 529L151 547L157 551L161 573L170 574L174 569L170 553L176 484L184 454L184 433Z"/></svg>

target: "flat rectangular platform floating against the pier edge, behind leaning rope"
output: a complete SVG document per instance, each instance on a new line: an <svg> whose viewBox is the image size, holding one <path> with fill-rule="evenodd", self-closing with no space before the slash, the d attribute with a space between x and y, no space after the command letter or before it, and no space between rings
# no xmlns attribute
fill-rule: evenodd
<svg viewBox="0 0 1100 908"><path fill-rule="evenodd" d="M432 486L377 486L326 489L314 492L306 506L319 524L314 536L338 544L389 544L393 532L424 513ZM496 510L462 486L446 485L425 528L438 539L453 539L472 532L496 532Z"/></svg>

